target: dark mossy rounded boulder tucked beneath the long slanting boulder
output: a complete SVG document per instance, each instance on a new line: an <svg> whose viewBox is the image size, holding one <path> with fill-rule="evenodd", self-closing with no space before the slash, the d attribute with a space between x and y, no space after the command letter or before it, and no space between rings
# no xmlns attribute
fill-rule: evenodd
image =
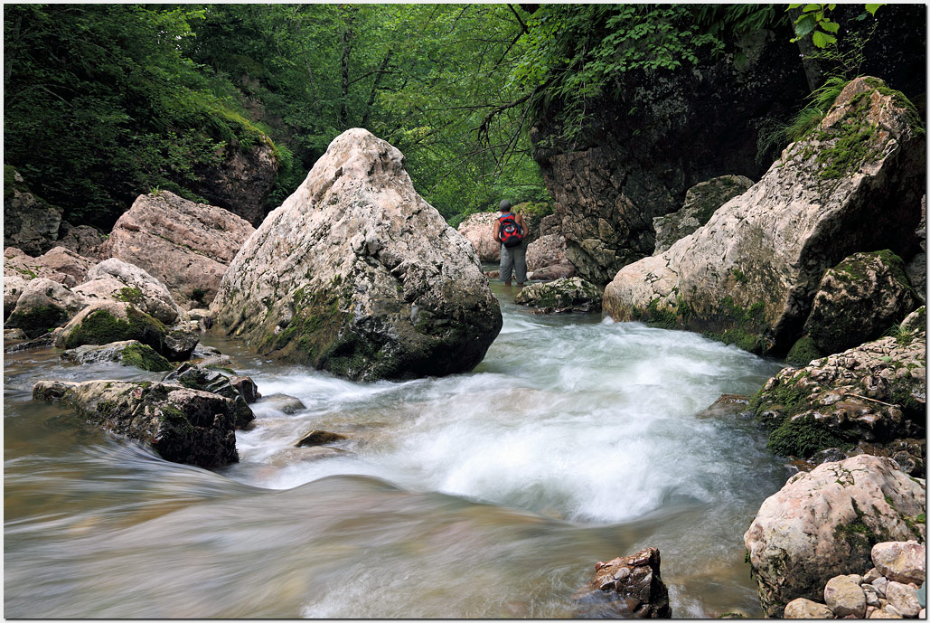
<svg viewBox="0 0 930 623"><path fill-rule="evenodd" d="M804 332L822 352L840 352L880 337L918 305L891 251L856 253L825 272Z"/></svg>

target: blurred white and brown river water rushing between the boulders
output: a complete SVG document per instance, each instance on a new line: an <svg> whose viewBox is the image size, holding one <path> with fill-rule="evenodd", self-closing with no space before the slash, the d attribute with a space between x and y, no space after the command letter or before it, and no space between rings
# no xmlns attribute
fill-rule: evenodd
<svg viewBox="0 0 930 623"><path fill-rule="evenodd" d="M657 546L676 617L761 616L742 534L787 471L699 414L779 365L697 335L540 316L472 373L359 384L204 342L271 400L240 462L168 463L30 401L40 378L138 378L7 355L7 617L557 617L598 560ZM313 429L347 435L294 447Z"/></svg>

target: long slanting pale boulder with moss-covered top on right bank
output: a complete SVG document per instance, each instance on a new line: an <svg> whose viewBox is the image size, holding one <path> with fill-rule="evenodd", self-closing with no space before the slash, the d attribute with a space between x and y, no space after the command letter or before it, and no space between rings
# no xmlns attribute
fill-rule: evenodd
<svg viewBox="0 0 930 623"><path fill-rule="evenodd" d="M903 96L857 78L751 189L667 251L618 272L604 312L620 321L673 314L746 350L787 352L824 270L857 251L910 257L917 248L920 124Z"/></svg>

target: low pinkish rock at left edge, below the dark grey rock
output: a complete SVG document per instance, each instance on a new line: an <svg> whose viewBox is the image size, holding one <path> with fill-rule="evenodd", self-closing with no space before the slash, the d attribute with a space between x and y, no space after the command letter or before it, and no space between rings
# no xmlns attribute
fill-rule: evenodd
<svg viewBox="0 0 930 623"><path fill-rule="evenodd" d="M58 246L38 258L26 255L15 246L7 247L3 262L4 318L13 312L31 280L44 277L73 287L84 281L92 263L90 259Z"/></svg>

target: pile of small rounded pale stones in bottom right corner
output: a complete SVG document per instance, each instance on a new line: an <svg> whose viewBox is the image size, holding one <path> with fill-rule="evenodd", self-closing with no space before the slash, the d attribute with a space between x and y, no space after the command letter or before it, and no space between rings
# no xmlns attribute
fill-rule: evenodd
<svg viewBox="0 0 930 623"><path fill-rule="evenodd" d="M877 543L871 559L875 566L864 576L831 577L824 603L804 598L788 603L785 618L924 618L917 589L926 577L926 548L914 540Z"/></svg>

